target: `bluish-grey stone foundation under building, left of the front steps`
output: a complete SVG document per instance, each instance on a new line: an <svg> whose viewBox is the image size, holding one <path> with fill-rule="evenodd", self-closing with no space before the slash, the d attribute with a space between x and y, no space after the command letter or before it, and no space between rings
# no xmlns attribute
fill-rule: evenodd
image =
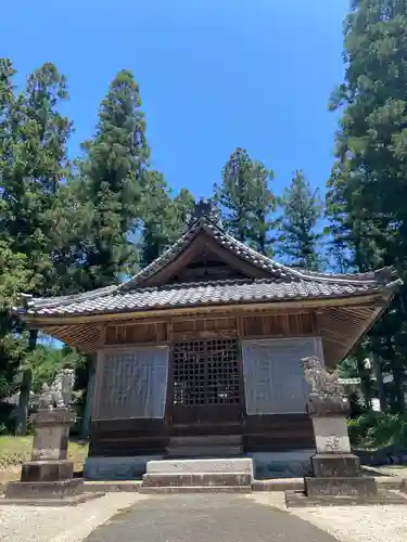
<svg viewBox="0 0 407 542"><path fill-rule="evenodd" d="M140 479L147 470L147 463L161 459L162 455L88 457L85 462L84 477L88 480Z"/></svg>

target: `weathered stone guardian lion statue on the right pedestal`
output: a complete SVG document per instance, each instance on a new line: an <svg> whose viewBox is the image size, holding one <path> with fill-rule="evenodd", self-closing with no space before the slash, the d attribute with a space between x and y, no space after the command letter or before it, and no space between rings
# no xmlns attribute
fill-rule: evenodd
<svg viewBox="0 0 407 542"><path fill-rule="evenodd" d="M316 356L303 358L304 377L310 385L310 397L344 398L344 389L336 373L328 373Z"/></svg>

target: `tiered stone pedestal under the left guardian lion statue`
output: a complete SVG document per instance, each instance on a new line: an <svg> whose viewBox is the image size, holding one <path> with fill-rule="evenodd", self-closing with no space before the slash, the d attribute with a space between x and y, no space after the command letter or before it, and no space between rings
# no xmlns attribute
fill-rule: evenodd
<svg viewBox="0 0 407 542"><path fill-rule="evenodd" d="M87 500L84 480L73 477L74 462L66 459L75 414L68 409L40 410L30 422L35 430L31 461L23 465L21 481L8 485L2 504L72 505Z"/></svg>

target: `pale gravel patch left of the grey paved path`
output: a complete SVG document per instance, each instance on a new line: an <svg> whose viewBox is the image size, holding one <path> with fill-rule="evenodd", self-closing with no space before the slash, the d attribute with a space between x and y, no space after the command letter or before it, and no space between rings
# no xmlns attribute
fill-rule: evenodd
<svg viewBox="0 0 407 542"><path fill-rule="evenodd" d="M0 506L1 542L79 542L117 512L147 499L110 493L75 507Z"/></svg>

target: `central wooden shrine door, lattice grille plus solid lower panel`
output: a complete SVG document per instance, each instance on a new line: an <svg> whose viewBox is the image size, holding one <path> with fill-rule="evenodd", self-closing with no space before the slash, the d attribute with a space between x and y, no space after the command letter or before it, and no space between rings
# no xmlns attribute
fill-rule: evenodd
<svg viewBox="0 0 407 542"><path fill-rule="evenodd" d="M171 424L219 426L242 423L243 386L237 339L175 343L171 372Z"/></svg>

